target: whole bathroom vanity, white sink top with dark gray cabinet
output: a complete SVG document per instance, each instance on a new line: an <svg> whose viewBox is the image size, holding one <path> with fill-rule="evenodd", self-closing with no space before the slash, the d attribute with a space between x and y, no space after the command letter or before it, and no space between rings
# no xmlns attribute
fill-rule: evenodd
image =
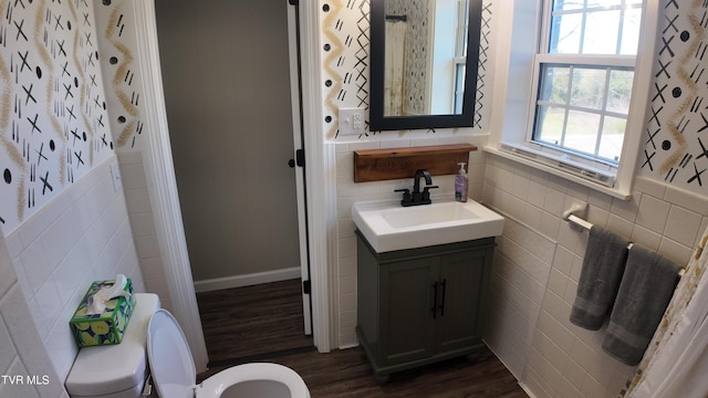
<svg viewBox="0 0 708 398"><path fill-rule="evenodd" d="M473 200L356 202L360 344L386 383L392 373L476 356L483 347L494 237L504 219Z"/></svg>

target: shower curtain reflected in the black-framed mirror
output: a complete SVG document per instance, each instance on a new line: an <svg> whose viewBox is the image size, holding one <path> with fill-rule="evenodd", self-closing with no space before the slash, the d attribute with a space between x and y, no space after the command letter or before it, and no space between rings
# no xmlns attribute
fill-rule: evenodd
<svg viewBox="0 0 708 398"><path fill-rule="evenodd" d="M384 116L403 115L403 77L407 23L386 21Z"/></svg>

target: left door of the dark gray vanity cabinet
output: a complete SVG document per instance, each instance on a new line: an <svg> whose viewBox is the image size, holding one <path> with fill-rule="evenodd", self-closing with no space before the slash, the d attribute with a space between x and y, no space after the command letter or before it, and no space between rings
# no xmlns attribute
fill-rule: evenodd
<svg viewBox="0 0 708 398"><path fill-rule="evenodd" d="M433 261L429 258L406 260L382 265L379 270L382 365L431 356L437 282Z"/></svg>

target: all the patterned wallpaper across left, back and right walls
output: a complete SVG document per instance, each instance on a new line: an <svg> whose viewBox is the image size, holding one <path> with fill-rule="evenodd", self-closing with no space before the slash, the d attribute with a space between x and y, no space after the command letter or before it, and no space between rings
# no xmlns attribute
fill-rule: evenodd
<svg viewBox="0 0 708 398"><path fill-rule="evenodd" d="M106 20L98 31L94 4ZM131 4L0 0L0 228L6 234L114 148L140 145L136 38L132 10L126 9ZM368 108L369 0L320 4L323 132L332 139L340 107ZM662 7L639 175L706 195L708 2L664 0ZM485 130L489 118L491 21L488 0L482 9L476 130ZM102 64L110 93L104 93ZM108 117L107 108L115 117ZM373 134L379 133L365 136ZM398 132L406 134L413 132Z"/></svg>

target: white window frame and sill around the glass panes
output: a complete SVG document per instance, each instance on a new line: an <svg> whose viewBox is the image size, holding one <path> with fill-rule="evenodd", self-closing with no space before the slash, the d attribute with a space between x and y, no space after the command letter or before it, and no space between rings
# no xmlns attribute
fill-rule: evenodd
<svg viewBox="0 0 708 398"><path fill-rule="evenodd" d="M550 40L550 34L545 32L551 18L543 18L543 12L549 10L546 7L552 7L552 0L537 0L528 3L525 1L528 0L516 0L513 7L500 10L499 13L502 21L509 18L513 23L508 23L506 31L500 29L499 62L506 62L507 65L499 71L498 82L503 85L503 91L496 103L502 107L503 114L497 121L492 121L492 132L499 128L500 133L492 133L486 149L613 197L629 199L643 142L643 129L650 106L648 101L650 84L646 82L653 81L654 77L653 67L659 34L659 0L644 0L637 54L636 57L628 56L629 60L635 60L634 83L622 155L616 167L602 165L582 156L572 156L531 140L540 82L539 65L541 61L548 60L544 54L540 54L540 50L541 45L548 45ZM533 15L530 14L531 12ZM530 39L531 33L533 35ZM573 57L573 55L569 56ZM618 55L618 57L623 56L625 55ZM604 57L604 55L593 55L589 59L602 62ZM616 55L612 57L615 59ZM553 59L556 63L558 60L565 59L565 54L554 54ZM527 78L528 84L525 88L519 90L522 87L518 86L518 82L523 77ZM518 121L520 113L524 113L523 121Z"/></svg>

